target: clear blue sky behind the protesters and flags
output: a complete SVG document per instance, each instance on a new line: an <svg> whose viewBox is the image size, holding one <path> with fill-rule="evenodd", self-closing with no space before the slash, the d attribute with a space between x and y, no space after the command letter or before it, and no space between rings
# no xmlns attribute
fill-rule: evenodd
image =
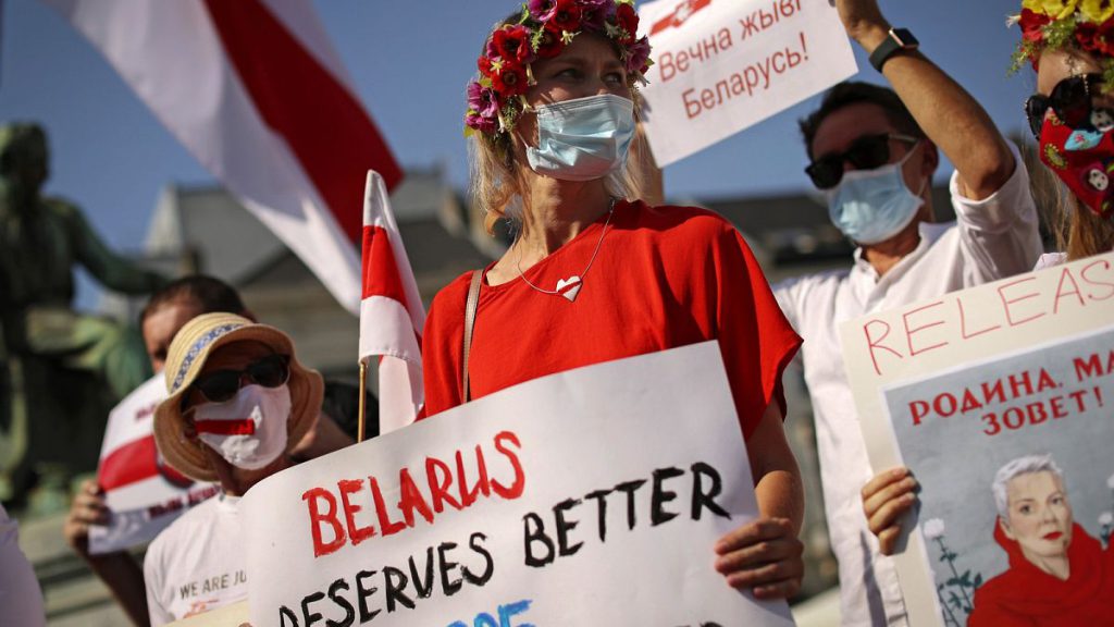
<svg viewBox="0 0 1114 627"><path fill-rule="evenodd" d="M817 2L823 0L805 0ZM984 104L1006 132L1023 128L1032 73L1007 77L1019 37L1018 0L891 0L882 10ZM37 119L50 133L51 194L81 205L114 247L138 250L159 190L212 177L131 94L100 55L38 0L6 0L0 120ZM515 7L494 0L316 0L359 96L404 166L443 164L467 177L463 88L487 29ZM859 78L880 77L858 51ZM803 190L808 180L792 107L666 170L671 196ZM942 168L941 168L942 170ZM942 177L944 172L940 173Z"/></svg>

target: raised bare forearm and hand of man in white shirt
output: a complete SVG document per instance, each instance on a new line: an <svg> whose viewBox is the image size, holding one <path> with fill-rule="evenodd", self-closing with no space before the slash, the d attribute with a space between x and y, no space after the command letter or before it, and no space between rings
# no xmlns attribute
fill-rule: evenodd
<svg viewBox="0 0 1114 627"><path fill-rule="evenodd" d="M867 54L889 38L891 25L877 0L833 3L847 33ZM919 51L903 50L886 61L882 74L928 138L956 166L964 196L986 199L1009 180L1016 164L1006 139L975 98L936 64Z"/></svg>

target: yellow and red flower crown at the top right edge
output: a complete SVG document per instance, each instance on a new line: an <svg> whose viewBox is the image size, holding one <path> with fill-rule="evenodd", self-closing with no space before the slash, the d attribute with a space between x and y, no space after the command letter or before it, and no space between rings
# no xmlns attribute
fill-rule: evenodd
<svg viewBox="0 0 1114 627"><path fill-rule="evenodd" d="M1022 27L1014 70L1036 67L1046 49L1079 48L1098 57L1103 78L1114 85L1114 2L1110 0L1023 0L1010 23Z"/></svg>

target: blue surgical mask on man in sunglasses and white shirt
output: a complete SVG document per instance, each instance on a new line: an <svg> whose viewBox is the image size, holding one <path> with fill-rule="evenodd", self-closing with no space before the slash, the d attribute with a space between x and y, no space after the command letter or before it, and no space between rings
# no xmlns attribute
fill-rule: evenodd
<svg viewBox="0 0 1114 627"><path fill-rule="evenodd" d="M840 184L824 193L828 215L844 235L858 244L877 244L912 222L925 199L909 191L901 166L919 147L898 163L844 172Z"/></svg>

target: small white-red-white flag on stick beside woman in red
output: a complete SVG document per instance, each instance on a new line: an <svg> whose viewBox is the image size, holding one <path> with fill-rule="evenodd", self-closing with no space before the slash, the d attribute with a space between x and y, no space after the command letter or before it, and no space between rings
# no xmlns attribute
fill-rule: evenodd
<svg viewBox="0 0 1114 627"><path fill-rule="evenodd" d="M363 204L363 301L360 360L380 356L379 431L414 421L424 402L421 331L426 308L418 293L383 177L368 172Z"/></svg>

